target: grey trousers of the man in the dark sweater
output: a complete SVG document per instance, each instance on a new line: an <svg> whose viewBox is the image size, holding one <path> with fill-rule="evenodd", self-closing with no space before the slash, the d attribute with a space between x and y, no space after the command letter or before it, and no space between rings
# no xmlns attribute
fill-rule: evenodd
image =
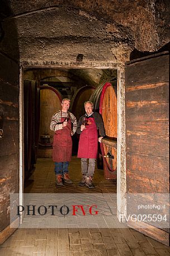
<svg viewBox="0 0 170 256"><path fill-rule="evenodd" d="M93 177L94 170L95 170L95 162L96 160L94 158L88 159L87 158L81 158L81 173L82 175L87 175L90 177Z"/></svg>

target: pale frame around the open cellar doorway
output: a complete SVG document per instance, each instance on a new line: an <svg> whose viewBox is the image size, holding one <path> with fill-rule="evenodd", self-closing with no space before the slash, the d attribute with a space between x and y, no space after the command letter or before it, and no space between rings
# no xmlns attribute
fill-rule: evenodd
<svg viewBox="0 0 170 256"><path fill-rule="evenodd" d="M122 216L127 213L127 203L125 194L127 192L126 163L125 163L125 68L124 63L115 62L48 62L42 60L21 60L20 61L20 205L23 202L23 181L24 181L24 147L23 147L23 71L30 68L50 68L50 69L116 69L117 70L117 107L118 107L118 148L117 148L117 217L120 222L124 222ZM21 217L22 222L22 217Z"/></svg>

